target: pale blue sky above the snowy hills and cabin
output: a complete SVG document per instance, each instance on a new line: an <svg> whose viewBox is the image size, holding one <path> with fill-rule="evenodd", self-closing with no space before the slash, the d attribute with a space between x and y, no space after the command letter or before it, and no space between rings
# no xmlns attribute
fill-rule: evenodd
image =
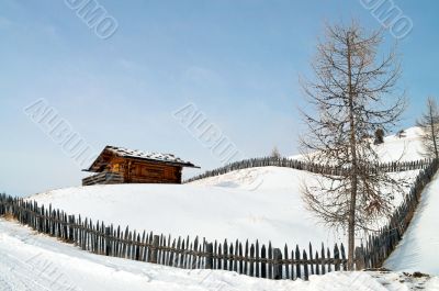
<svg viewBox="0 0 439 291"><path fill-rule="evenodd" d="M104 1L119 23L99 38L65 1L0 2L0 191L31 194L77 186L83 174L23 108L40 98L93 147L175 153L203 169L221 165L172 116L194 103L243 155L294 154L324 22L380 23L360 1ZM395 1L414 23L399 41L412 126L438 96L437 1ZM393 42L386 32L384 48ZM194 171L187 171L193 175Z"/></svg>

